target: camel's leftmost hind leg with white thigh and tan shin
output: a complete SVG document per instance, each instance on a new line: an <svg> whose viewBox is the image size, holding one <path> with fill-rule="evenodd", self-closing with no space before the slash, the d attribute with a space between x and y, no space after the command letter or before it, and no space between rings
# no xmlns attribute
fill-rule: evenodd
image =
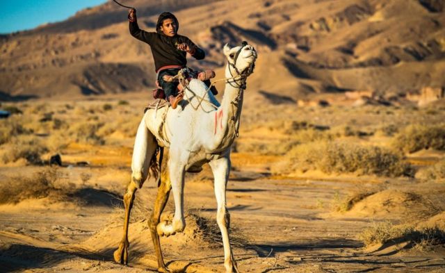
<svg viewBox="0 0 445 273"><path fill-rule="evenodd" d="M147 126L145 125L145 118L143 118L139 124L133 148L131 181L128 185L127 192L124 195L124 234L119 244L119 248L113 254L114 260L117 263L122 263L124 265L128 264L128 226L131 207L133 206L136 190L141 188L145 179L147 179L150 163L156 163L156 155L154 154L156 148L157 144L154 141L154 136L148 131Z"/></svg>

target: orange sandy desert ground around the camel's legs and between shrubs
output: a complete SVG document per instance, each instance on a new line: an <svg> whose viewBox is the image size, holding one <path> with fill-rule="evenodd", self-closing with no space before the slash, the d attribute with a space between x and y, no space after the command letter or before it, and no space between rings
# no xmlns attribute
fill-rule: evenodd
<svg viewBox="0 0 445 273"><path fill-rule="evenodd" d="M132 103L131 97L129 101ZM283 117L283 113L291 113L293 108L282 109ZM341 117L332 115L332 109L306 109L307 116L302 118L316 115L319 124L325 124L324 120L344 123ZM261 120L263 112L247 113L239 143L277 141L266 136L259 138L264 126L250 123L253 119ZM364 113L374 115L376 111ZM369 126L370 122L366 122L369 119L354 116ZM265 120L274 118L272 115ZM120 198L129 181L132 138L122 137L120 143L119 149L116 145L69 145L63 154L65 167L57 167L60 179L56 188L71 188L70 194L59 192L0 206L0 272L156 269L146 220L156 195L152 180L136 192L129 227L129 265L113 261L113 251L122 236ZM412 156L412 160L428 164L434 156L423 152ZM426 222L439 215L445 208L444 183L327 176L316 172L305 176L273 174L270 167L280 160L281 156L243 151L232 154L227 207L231 213L234 254L241 272L445 272L445 249L440 245L430 251L421 251L405 242L365 248L359 238L375 222ZM78 161L88 161L90 165L77 166L74 163ZM0 167L0 181L14 185L15 176L33 176L45 168L18 163L4 165ZM88 178L82 179L85 174ZM377 193L346 213L335 212L332 207L336 200L351 192ZM200 217L209 221L216 218L208 167L200 174L188 174L185 195L186 230L161 238L168 268L172 272L224 272L223 248L203 235L204 228L198 221ZM414 195L419 198L412 198ZM172 211L170 198L164 217L171 217ZM443 219L443 213L440 217Z"/></svg>

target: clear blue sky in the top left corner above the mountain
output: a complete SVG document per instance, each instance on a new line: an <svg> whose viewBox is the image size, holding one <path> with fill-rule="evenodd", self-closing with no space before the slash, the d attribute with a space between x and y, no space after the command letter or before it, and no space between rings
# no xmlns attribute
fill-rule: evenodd
<svg viewBox="0 0 445 273"><path fill-rule="evenodd" d="M106 0L0 0L0 33L35 28L63 21L76 11Z"/></svg>

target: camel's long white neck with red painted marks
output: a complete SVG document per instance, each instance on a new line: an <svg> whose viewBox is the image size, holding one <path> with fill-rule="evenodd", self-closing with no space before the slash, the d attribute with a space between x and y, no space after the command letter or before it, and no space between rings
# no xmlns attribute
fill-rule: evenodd
<svg viewBox="0 0 445 273"><path fill-rule="evenodd" d="M229 65L225 69L225 77L231 78ZM215 138L218 149L224 149L232 144L238 132L241 108L243 108L243 92L240 85L241 80L232 84L226 83L221 106L216 110L215 115Z"/></svg>

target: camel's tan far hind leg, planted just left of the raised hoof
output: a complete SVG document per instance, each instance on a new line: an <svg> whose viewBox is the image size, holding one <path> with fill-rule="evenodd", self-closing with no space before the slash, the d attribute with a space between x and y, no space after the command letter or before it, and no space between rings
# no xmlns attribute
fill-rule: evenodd
<svg viewBox="0 0 445 273"><path fill-rule="evenodd" d="M158 272L168 272L162 257L161 243L159 242L159 235L156 231L156 226L159 224L159 220L161 219L161 213L165 208L165 204L167 204L171 189L172 186L170 184L168 172L164 171L161 174L161 181L158 188L158 194L156 195L156 201L154 202L152 217L149 222L154 251L156 251L156 258L158 259Z"/></svg>

